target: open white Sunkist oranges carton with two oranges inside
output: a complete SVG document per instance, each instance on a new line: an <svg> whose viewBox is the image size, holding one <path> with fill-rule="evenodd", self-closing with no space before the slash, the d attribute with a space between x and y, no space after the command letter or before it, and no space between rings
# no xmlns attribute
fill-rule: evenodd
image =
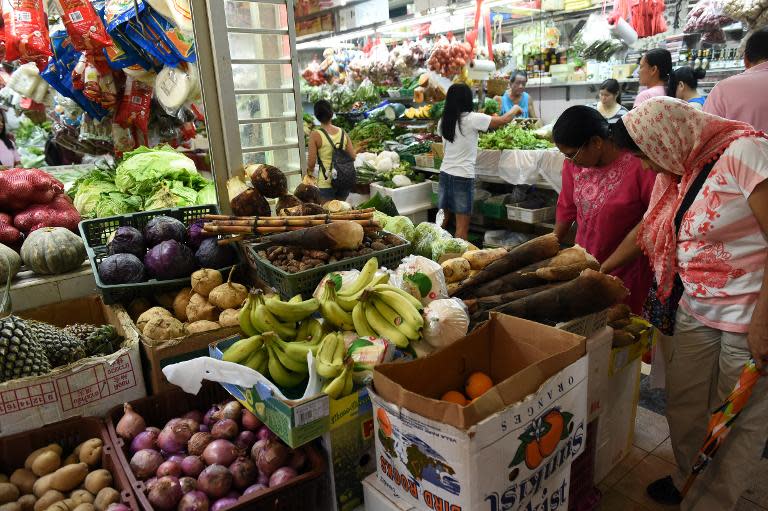
<svg viewBox="0 0 768 511"><path fill-rule="evenodd" d="M496 385L472 404L440 401L472 372ZM583 337L494 314L471 334L374 372L377 475L418 509L567 509L584 449Z"/></svg>

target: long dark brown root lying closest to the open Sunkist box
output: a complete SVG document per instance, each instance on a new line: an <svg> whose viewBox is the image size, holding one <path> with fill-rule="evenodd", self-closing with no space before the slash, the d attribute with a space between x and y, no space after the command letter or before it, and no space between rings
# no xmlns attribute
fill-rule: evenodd
<svg viewBox="0 0 768 511"><path fill-rule="evenodd" d="M620 279L584 270L574 280L491 309L540 323L560 323L606 309L627 297Z"/></svg>

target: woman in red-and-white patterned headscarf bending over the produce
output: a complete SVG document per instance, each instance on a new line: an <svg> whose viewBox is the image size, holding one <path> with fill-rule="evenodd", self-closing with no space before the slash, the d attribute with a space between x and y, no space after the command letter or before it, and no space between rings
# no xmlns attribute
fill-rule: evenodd
<svg viewBox="0 0 768 511"><path fill-rule="evenodd" d="M766 378L685 499L679 490L710 412L744 363L753 357L763 374L768 369L768 140L746 123L672 98L648 100L628 113L613 138L659 175L643 221L603 271L645 253L659 299L676 309L674 336L662 350L679 469L648 486L648 494L686 511L733 509L768 437Z"/></svg>

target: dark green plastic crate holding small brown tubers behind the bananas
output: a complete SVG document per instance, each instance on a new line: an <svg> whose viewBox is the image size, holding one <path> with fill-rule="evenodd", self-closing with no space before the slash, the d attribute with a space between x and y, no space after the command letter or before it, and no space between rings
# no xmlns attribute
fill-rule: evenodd
<svg viewBox="0 0 768 511"><path fill-rule="evenodd" d="M258 252L263 245L262 243L243 244L242 247L246 254L248 264L251 269L256 272L256 276L275 288L277 292L280 293L280 296L287 299L296 296L297 294L301 294L303 297L308 298L315 291L315 288L320 281L323 280L323 277L328 273L353 269L359 270L371 257L378 259L379 266L396 268L403 257L408 254L410 246L410 243L401 236L398 236L398 238L402 240L402 245L385 248L384 250L376 250L370 254L350 257L349 259L297 273L288 273L260 257Z"/></svg>

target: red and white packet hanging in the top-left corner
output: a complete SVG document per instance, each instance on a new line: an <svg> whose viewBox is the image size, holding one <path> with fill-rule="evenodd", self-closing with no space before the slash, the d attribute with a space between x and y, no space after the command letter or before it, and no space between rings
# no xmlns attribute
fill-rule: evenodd
<svg viewBox="0 0 768 511"><path fill-rule="evenodd" d="M3 25L6 61L38 62L44 69L51 41L43 0L3 0Z"/></svg>

